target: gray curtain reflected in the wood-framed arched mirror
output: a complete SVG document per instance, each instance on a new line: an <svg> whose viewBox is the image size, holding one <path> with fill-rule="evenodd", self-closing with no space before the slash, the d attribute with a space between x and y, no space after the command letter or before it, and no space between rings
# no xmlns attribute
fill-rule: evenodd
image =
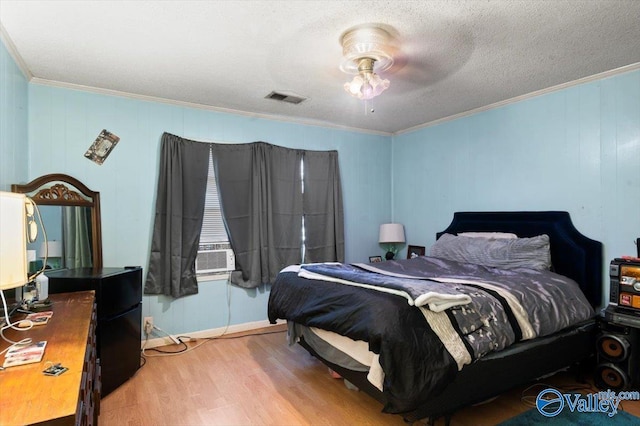
<svg viewBox="0 0 640 426"><path fill-rule="evenodd" d="M63 206L62 235L64 267L73 269L93 266L91 209L80 206Z"/></svg>

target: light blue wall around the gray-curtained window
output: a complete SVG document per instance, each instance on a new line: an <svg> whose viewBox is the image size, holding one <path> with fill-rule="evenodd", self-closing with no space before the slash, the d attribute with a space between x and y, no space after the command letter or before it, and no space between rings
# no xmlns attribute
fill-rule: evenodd
<svg viewBox="0 0 640 426"><path fill-rule="evenodd" d="M120 142L102 166L83 154L102 129ZM315 150L338 150L345 209L347 261L380 254L380 223L391 219L391 138L232 115L202 109L29 85L29 179L72 175L99 191L105 266L147 268L155 206L160 137L265 141ZM177 334L266 319L268 290L233 287L227 309L224 281L201 283L181 299L145 296L143 315Z"/></svg>

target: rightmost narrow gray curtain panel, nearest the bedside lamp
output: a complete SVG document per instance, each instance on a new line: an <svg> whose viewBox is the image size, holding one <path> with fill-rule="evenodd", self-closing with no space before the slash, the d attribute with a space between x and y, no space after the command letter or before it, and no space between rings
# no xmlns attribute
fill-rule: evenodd
<svg viewBox="0 0 640 426"><path fill-rule="evenodd" d="M344 262L344 211L337 151L304 154L304 262Z"/></svg>

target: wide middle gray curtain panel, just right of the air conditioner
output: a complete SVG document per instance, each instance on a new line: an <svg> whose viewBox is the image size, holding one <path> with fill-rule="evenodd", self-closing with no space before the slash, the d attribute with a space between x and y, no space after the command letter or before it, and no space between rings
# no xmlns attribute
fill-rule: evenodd
<svg viewBox="0 0 640 426"><path fill-rule="evenodd" d="M231 282L255 288L302 256L303 151L265 142L211 144L222 217L236 255Z"/></svg>

